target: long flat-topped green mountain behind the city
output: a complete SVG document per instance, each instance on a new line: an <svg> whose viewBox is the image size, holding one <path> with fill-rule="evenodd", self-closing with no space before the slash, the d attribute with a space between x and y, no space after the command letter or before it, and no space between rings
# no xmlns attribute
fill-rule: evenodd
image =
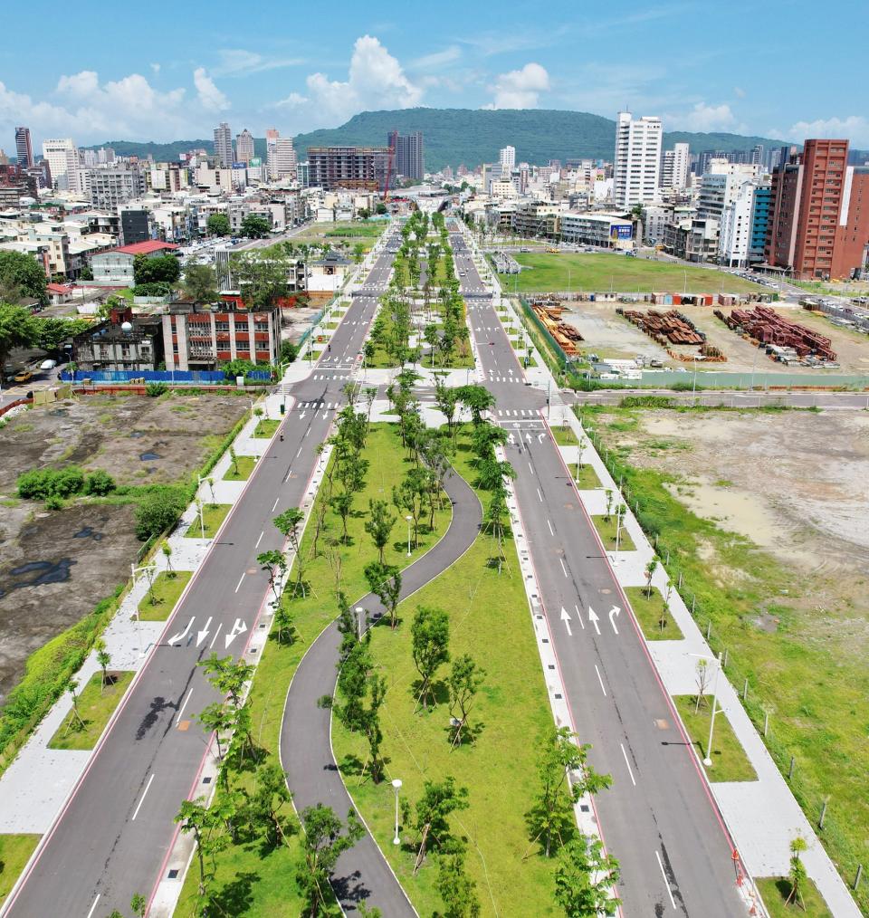
<svg viewBox="0 0 869 918"><path fill-rule="evenodd" d="M541 108L404 108L397 111L362 112L340 128L299 134L295 148L299 160L308 147L386 145L386 135L421 130L425 138L426 168L434 172L445 165L460 163L472 167L494 162L501 147L516 147L517 161L544 163L576 157L611 160L616 123L611 118L587 112L556 111ZM687 142L692 152L703 150L747 150L757 143L780 146L783 141L740 134L695 134L671 131L664 134L664 148ZM211 151L211 140L175 140L173 143L135 143L107 140L99 146L114 147L125 156L153 155L155 160L177 160L178 154L196 147ZM258 156L265 155L265 140L254 140Z"/></svg>

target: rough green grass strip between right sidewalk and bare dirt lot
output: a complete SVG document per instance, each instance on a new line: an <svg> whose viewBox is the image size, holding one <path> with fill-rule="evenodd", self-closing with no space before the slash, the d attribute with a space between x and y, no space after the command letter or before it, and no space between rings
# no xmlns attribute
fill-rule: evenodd
<svg viewBox="0 0 869 918"><path fill-rule="evenodd" d="M683 596L711 646L728 651L727 675L742 688L752 722L763 733L766 711L770 726L766 744L786 776L808 819L817 827L821 805L828 802L819 836L843 879L852 883L865 863L869 837L869 773L865 699L869 670L859 654L835 652L835 634L819 630L817 616L805 602L810 578L797 568L785 568L750 539L726 532L714 521L701 519L674 498L665 486L678 476L630 463L630 447L622 434L636 431L638 419L630 409L579 409L586 430L596 431L608 446L610 473L624 476L625 496L650 538L657 535L659 558L670 556L668 574L675 583L684 577ZM607 419L601 419L606 414ZM783 585L787 586L787 595ZM774 632L758 624L764 615L777 620ZM869 914L869 884L855 893Z"/></svg>

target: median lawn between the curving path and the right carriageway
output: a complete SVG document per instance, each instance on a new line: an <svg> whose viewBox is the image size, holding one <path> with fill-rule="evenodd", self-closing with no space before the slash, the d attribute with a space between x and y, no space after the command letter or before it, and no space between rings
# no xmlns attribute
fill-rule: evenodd
<svg viewBox="0 0 869 918"><path fill-rule="evenodd" d="M459 455L461 468L467 453ZM472 469L464 472L473 480ZM468 838L466 864L483 915L560 913L551 899L553 862L537 855L524 820L536 789L533 740L551 724L551 711L512 543L507 554L509 566L499 576L492 565L492 540L478 537L449 570L402 604L404 622L395 633L374 630L373 659L388 681L382 709L387 780L360 783L358 762L366 745L332 720L332 744L347 787L420 915L443 908L434 887L437 857L429 856L414 877L413 830L403 827L405 844L398 849L392 844L395 796L389 781L396 777L404 782L402 795L414 803L425 779L452 775L469 789L469 809L452 817L451 824L455 834ZM414 710L418 673L409 626L419 605L448 610L451 654L471 654L486 670L472 714L482 729L475 743L453 751L449 705L441 700L428 712ZM443 666L439 677L448 671ZM441 683L438 691L445 690Z"/></svg>

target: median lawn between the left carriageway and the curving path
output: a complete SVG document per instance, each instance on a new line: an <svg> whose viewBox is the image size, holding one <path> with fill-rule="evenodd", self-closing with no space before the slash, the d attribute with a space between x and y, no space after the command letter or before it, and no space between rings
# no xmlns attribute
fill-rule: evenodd
<svg viewBox="0 0 869 918"><path fill-rule="evenodd" d="M335 579L324 550L337 548L341 556L341 588L351 599L360 599L368 592L362 570L374 557L370 537L364 532L368 517L368 500L389 501L392 488L399 483L409 467L405 451L396 436L396 428L387 424L373 424L368 442L362 453L371 465L366 476L365 488L356 498L354 507L359 511L350 517L348 531L350 543L341 546L336 542L340 535L340 519L331 510L326 514L326 528L320 536L318 557L306 564L305 577L315 585L317 593L309 593L307 599L295 599L295 628L299 639L295 644L277 644L269 640L263 649L262 659L257 667L251 688L251 714L256 724L256 735L262 746L272 755L277 754L278 735L284 713L284 700L295 667L311 642L338 614L333 599ZM321 488L315 501L316 514L324 499ZM449 505L436 515L435 532L420 532L419 547L414 548L414 557L407 558L407 529L396 522L393 530L395 539L386 547L385 560L389 564L407 565L418 554L428 550L445 532L449 524ZM312 553L314 521L312 517L302 540L303 556ZM340 813L343 817L346 814ZM273 851L263 852L260 845L233 845L217 856L217 874L214 890L221 897L222 907L227 913L245 918L273 918L275 915L297 915L301 912L301 901L295 888L295 869L301 857L296 838L291 845ZM194 915L197 905L197 871L194 867L184 881L181 900L175 911L178 918ZM244 895L233 898L236 890ZM229 904L231 902L231 907ZM218 914L223 912L217 912ZM337 908L332 914L339 914Z"/></svg>

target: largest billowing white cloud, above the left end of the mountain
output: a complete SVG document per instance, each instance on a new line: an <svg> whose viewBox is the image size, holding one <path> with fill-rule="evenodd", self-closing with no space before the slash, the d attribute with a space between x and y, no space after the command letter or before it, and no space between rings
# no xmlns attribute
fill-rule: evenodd
<svg viewBox="0 0 869 918"><path fill-rule="evenodd" d="M357 112L410 108L422 101L422 87L412 83L396 58L370 35L356 39L347 77L330 80L326 73L311 73L306 96L291 93L275 105L304 115L310 129L340 124Z"/></svg>

